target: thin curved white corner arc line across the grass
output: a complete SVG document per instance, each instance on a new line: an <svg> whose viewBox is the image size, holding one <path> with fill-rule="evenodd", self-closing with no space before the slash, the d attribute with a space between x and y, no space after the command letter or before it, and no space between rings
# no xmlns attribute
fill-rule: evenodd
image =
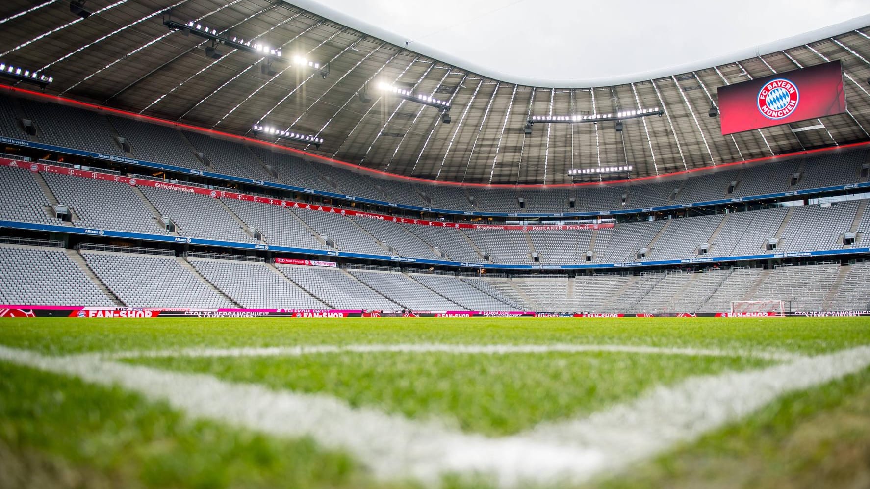
<svg viewBox="0 0 870 489"><path fill-rule="evenodd" d="M238 348L184 348L163 351L105 352L102 358L164 358L164 357L298 357L317 353L455 353L507 355L512 353L586 353L615 352L654 355L686 355L693 357L747 357L772 361L793 361L804 358L792 352L770 350L716 350L709 348L676 348L645 345L451 345L451 344L398 344L398 345L295 345L295 346L243 346Z"/></svg>

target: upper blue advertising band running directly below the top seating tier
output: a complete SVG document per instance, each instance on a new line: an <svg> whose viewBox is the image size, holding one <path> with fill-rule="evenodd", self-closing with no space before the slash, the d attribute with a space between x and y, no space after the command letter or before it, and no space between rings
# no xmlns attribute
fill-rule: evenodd
<svg viewBox="0 0 870 489"><path fill-rule="evenodd" d="M321 191L321 190L317 190L317 189L308 189L305 187L297 187L294 185L278 184L275 182L269 182L269 181L265 181L265 180L254 180L251 178L234 177L232 175L224 175L223 173L215 173L212 171L193 170L191 168L185 168L184 166L176 166L173 164L154 163L151 161L144 161L144 160L134 159L134 158L130 158L130 157L117 157L117 156L112 156L112 155L105 155L103 153L95 153L93 151L75 150L72 148L66 148L64 146L55 146L53 144L35 143L33 141L16 139L14 137L0 137L0 143L16 144L18 146L24 146L24 147L28 147L28 148L36 148L38 150L64 153L64 154L74 155L74 156L79 156L79 157L90 157L93 159L100 159L100 160L111 161L111 162L116 162L116 163L132 164L132 165L141 166L144 168L149 168L149 169L154 169L154 170L175 171L177 173L184 173L184 174L188 174L188 175L197 175L200 177L216 178L219 180L227 180L230 182L237 182L240 184L258 185L261 187L278 189L278 190L283 190L283 191L295 191L298 193L317 195L317 196L321 196L321 197L340 198L340 199L344 199L344 200L351 200L354 202L363 202L365 204L382 205L385 207L391 207L393 209L403 209L406 211L424 211L424 212L434 212L434 213L439 213L439 214L452 214L452 215L457 215L457 216L481 216L481 217L491 217L491 218L587 218L587 217L595 217L595 216L616 216L619 214L639 214L641 212L673 211L676 209L686 209L686 208L691 208L691 207L706 207L709 205L733 204L735 202L751 202L753 200L763 200L763 199L768 199L768 198L794 197L794 196L814 194L814 193L824 193L824 192L831 192L831 191L846 191L846 190L853 190L853 189L870 188L870 182L861 182L861 183L857 183L857 184L833 185L833 186L829 186L829 187L820 187L817 189L805 189L805 190L800 190L800 191L776 192L776 193L768 193L768 194L738 197L738 198L720 198L720 199L716 199L716 200L706 200L703 202L694 202L691 204L659 205L657 207L646 207L646 208L642 208L642 209L617 209L617 210L608 210L608 211L590 211L590 212L476 212L476 211L456 211L456 210L451 210L451 209L437 209L437 208L433 208L433 207L420 207L418 205L398 204L395 202L388 202L385 200L376 200L373 198L356 197L356 196L345 195L342 193L336 193L336 192L331 192L331 191Z"/></svg>

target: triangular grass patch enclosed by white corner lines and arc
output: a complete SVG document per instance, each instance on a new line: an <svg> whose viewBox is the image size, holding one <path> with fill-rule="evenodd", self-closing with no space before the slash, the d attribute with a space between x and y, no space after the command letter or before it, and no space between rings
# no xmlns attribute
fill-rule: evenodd
<svg viewBox="0 0 870 489"><path fill-rule="evenodd" d="M414 419L445 419L466 432L491 436L598 411L690 375L768 364L754 358L610 352L336 353L146 358L132 363L296 392L326 392L354 406L379 407Z"/></svg>

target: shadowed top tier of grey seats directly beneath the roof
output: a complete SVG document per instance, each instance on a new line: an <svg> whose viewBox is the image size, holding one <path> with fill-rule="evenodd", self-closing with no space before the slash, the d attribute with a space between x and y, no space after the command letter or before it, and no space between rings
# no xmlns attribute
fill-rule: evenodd
<svg viewBox="0 0 870 489"><path fill-rule="evenodd" d="M841 150L763 164L728 165L716 171L636 179L629 183L544 190L482 188L380 178L373 173L350 171L343 166L303 161L287 152L273 151L259 144L249 147L200 132L176 131L169 126L115 115L104 117L98 111L27 98L0 97L0 134L27 138L17 121L20 117L16 106L20 106L25 117L36 123L37 137L46 144L123 157L124 151L117 142L117 136L120 136L131 144L134 157L146 161L262 181L280 179L285 184L305 189L454 211L612 211L850 184L866 180L860 177L860 168L867 164L867 154L870 153L863 148ZM197 159L196 152L204 153L211 164L206 165ZM800 175L795 185L792 185L793 174ZM726 194L731 182L738 183L736 189ZM525 205L519 204L520 198ZM574 198L573 208L568 204L571 198Z"/></svg>

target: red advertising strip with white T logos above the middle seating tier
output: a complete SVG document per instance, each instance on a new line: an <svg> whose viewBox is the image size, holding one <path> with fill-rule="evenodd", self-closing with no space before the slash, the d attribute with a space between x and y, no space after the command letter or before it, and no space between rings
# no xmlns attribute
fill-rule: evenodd
<svg viewBox="0 0 870 489"><path fill-rule="evenodd" d="M247 200L249 202L256 202L258 204L271 204L271 205L280 205L281 207L291 207L293 209L308 209L311 211L320 211L320 212L331 212L341 214L343 216L354 216L358 218L371 218L371 219L380 219L382 221L392 221L394 223L401 224L418 224L418 225L430 225L430 226L439 226L439 227L452 227L457 229L504 229L504 230L522 230L522 231L559 231L559 230L572 230L572 229L589 229L595 230L600 228L612 228L613 223L599 223L599 224L561 224L561 225L543 225L543 224L534 224L534 225L519 225L519 224L467 224L467 223L450 223L446 221L430 221L425 219L411 219L411 218L397 218L394 216L386 216L384 214L374 214L371 212L365 211L354 211L352 209L341 209L338 207L331 207L329 205L321 205L321 204L305 204L304 202L295 202L292 200L285 200L280 198L267 198L267 197L258 197L256 195L248 195L244 193L237 193L232 191L219 191L219 190L211 190L204 189L202 187L194 187L191 185L184 184L172 184L166 183L163 181L149 180L145 178L131 178L124 177L121 175L111 175L109 173L101 173L99 171L91 171L91 170L78 170L75 168L67 168L65 166L59 166L55 164L44 164L44 163L28 163L24 161L17 161L14 159L8 158L0 158L0 166L11 166L16 168L29 169L30 171L45 171L50 173L61 173L64 175L70 175L71 177L80 177L80 178L95 178L97 180L108 180L110 182L117 182L118 184L129 184L132 186L145 186L145 187L155 187L157 189L163 189L167 191L180 191L185 193L195 193L200 195L207 195L212 198L233 198L237 200ZM322 265L329 266L329 265Z"/></svg>

